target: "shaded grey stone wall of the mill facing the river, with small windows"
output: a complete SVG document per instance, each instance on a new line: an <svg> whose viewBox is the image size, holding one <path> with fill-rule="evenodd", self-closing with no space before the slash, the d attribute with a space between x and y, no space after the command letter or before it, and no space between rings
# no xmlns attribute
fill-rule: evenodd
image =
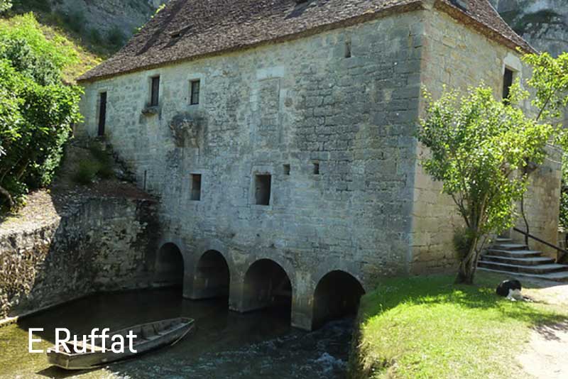
<svg viewBox="0 0 568 379"><path fill-rule="evenodd" d="M160 195L186 267L217 241L236 267L231 281L271 258L297 301L331 270L369 285L408 272L421 46L419 13L405 13L101 80L85 88L79 133L96 135L108 92L107 137ZM160 106L143 114L155 75ZM254 199L262 173L272 175L269 206ZM190 199L190 174L202 175L201 201Z"/></svg>

